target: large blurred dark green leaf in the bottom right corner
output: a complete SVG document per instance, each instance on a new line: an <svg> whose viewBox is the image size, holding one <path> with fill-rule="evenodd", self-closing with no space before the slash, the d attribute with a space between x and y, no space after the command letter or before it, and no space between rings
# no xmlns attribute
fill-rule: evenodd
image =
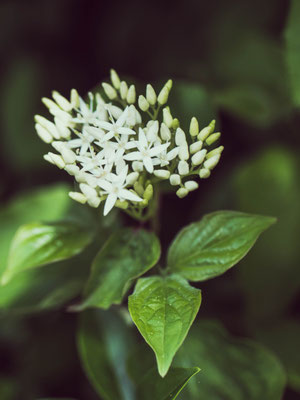
<svg viewBox="0 0 300 400"><path fill-rule="evenodd" d="M187 385L184 400L281 400L285 374L260 344L230 336L219 324L195 324L174 365L199 365L201 378Z"/></svg>

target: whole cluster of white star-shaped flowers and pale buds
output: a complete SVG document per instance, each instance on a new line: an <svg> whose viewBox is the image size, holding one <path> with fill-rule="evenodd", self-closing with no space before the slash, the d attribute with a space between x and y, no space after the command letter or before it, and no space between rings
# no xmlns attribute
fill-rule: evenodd
<svg viewBox="0 0 300 400"><path fill-rule="evenodd" d="M146 95L136 102L135 86L120 81L111 70L112 84L103 83L106 100L89 93L84 101L75 89L70 100L58 92L42 101L54 122L36 115L36 131L57 153L45 160L74 176L79 191L72 199L98 207L105 201L104 215L114 207L141 217L153 197L153 184L169 180L178 197L198 188L191 176L207 178L219 162L223 146L208 151L220 133L215 122L199 131L192 118L189 137L166 107L172 81L157 96L147 85ZM158 115L162 111L162 122ZM146 118L144 118L146 117ZM145 121L144 121L145 120Z"/></svg>

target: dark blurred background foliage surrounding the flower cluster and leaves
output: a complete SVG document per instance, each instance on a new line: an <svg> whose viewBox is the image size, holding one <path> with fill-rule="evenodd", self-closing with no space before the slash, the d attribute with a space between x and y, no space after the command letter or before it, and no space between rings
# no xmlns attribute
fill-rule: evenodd
<svg viewBox="0 0 300 400"><path fill-rule="evenodd" d="M237 268L199 285L198 319L271 349L287 373L284 399L299 398L299 0L2 0L0 25L0 269L19 225L72 208L71 181L43 161L34 131L33 115L47 115L41 97L85 95L111 67L142 88L172 78L173 114L184 128L216 118L225 151L198 191L164 196L163 247L217 209L278 218ZM76 316L61 307L80 293L88 254L0 288L1 399L97 398L76 355Z"/></svg>

